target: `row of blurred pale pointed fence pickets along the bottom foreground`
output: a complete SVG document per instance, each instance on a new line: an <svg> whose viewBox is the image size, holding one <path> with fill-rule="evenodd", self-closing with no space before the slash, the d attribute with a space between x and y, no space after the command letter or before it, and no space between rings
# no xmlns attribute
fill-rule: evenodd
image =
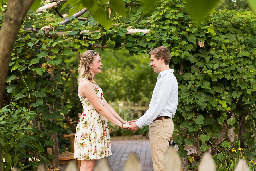
<svg viewBox="0 0 256 171"><path fill-rule="evenodd" d="M178 153L174 150L172 146L168 149L165 159L165 171L182 171L181 160ZM141 164L139 158L135 153L131 153L127 158L123 171L141 171ZM212 156L209 153L205 153L202 160L198 166L198 171L216 171L216 165ZM44 166L40 166L37 171L46 171ZM71 162L68 164L66 171L78 171L77 164ZM107 163L107 159L103 158L99 160L94 168L94 171L111 171ZM238 161L237 166L233 171L250 171L245 160L241 159Z"/></svg>

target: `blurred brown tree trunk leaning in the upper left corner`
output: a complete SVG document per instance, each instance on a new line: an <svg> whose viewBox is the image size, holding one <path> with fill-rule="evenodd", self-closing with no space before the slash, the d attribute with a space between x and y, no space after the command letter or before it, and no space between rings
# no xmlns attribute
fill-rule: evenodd
<svg viewBox="0 0 256 171"><path fill-rule="evenodd" d="M9 0L7 9L5 10L5 19L0 31L0 108L13 45L21 23L33 1L34 0ZM1 156L0 154L0 161L2 160ZM0 170L2 170L2 162L0 162Z"/></svg>

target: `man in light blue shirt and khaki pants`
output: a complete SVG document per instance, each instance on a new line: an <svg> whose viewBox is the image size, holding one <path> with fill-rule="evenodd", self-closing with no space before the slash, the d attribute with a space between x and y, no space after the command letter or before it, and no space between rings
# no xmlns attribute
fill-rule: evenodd
<svg viewBox="0 0 256 171"><path fill-rule="evenodd" d="M170 51L164 47L158 47L149 53L150 66L154 72L160 73L154 88L149 109L138 120L129 121L128 128L137 131L139 128L149 125L149 141L154 171L164 170L164 158L169 147L174 125L172 118L178 105L178 82L170 69Z"/></svg>

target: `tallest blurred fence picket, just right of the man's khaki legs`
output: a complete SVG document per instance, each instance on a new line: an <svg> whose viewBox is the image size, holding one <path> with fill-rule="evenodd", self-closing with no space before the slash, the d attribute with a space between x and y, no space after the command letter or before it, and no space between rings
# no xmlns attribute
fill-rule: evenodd
<svg viewBox="0 0 256 171"><path fill-rule="evenodd" d="M180 171L180 157L172 146L165 155L165 171Z"/></svg>

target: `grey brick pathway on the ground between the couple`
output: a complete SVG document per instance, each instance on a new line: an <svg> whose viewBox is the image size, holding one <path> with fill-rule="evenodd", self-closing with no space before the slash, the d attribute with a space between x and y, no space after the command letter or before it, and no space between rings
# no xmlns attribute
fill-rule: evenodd
<svg viewBox="0 0 256 171"><path fill-rule="evenodd" d="M125 162L131 152L137 154L142 171L154 171L148 139L120 140L110 138L110 140L112 155L108 157L108 164L112 171L123 171Z"/></svg>

